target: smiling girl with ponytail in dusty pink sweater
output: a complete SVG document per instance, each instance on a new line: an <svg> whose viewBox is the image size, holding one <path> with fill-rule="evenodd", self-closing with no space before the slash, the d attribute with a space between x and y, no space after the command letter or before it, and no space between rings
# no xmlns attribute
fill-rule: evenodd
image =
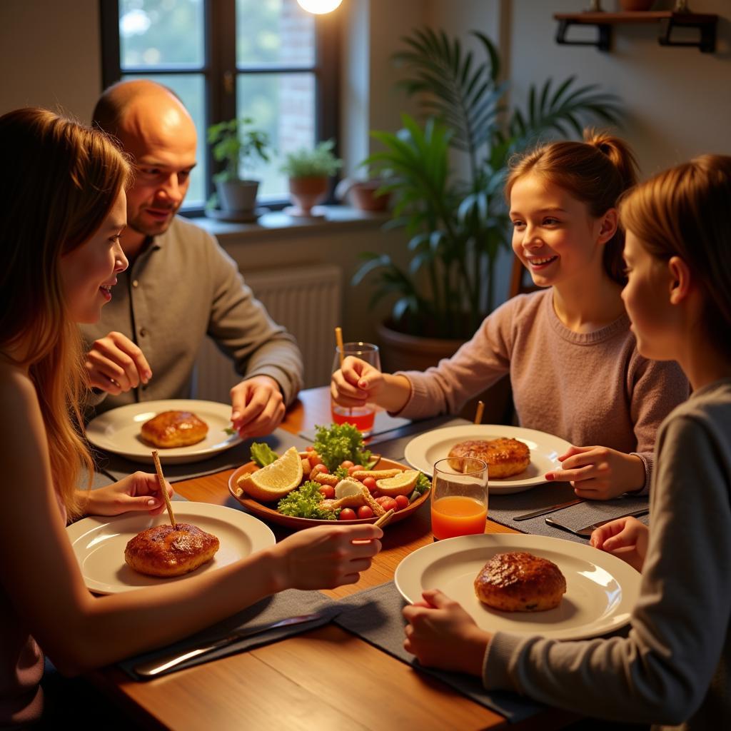
<svg viewBox="0 0 731 731"><path fill-rule="evenodd" d="M586 499L648 491L657 429L688 384L676 363L637 352L620 297L616 206L635 171L626 143L591 130L583 142L550 143L518 159L506 186L512 248L541 291L505 303L424 373L382 374L346 358L333 374L333 398L417 419L458 412L510 373L520 425L573 445L546 480L571 482Z"/></svg>

